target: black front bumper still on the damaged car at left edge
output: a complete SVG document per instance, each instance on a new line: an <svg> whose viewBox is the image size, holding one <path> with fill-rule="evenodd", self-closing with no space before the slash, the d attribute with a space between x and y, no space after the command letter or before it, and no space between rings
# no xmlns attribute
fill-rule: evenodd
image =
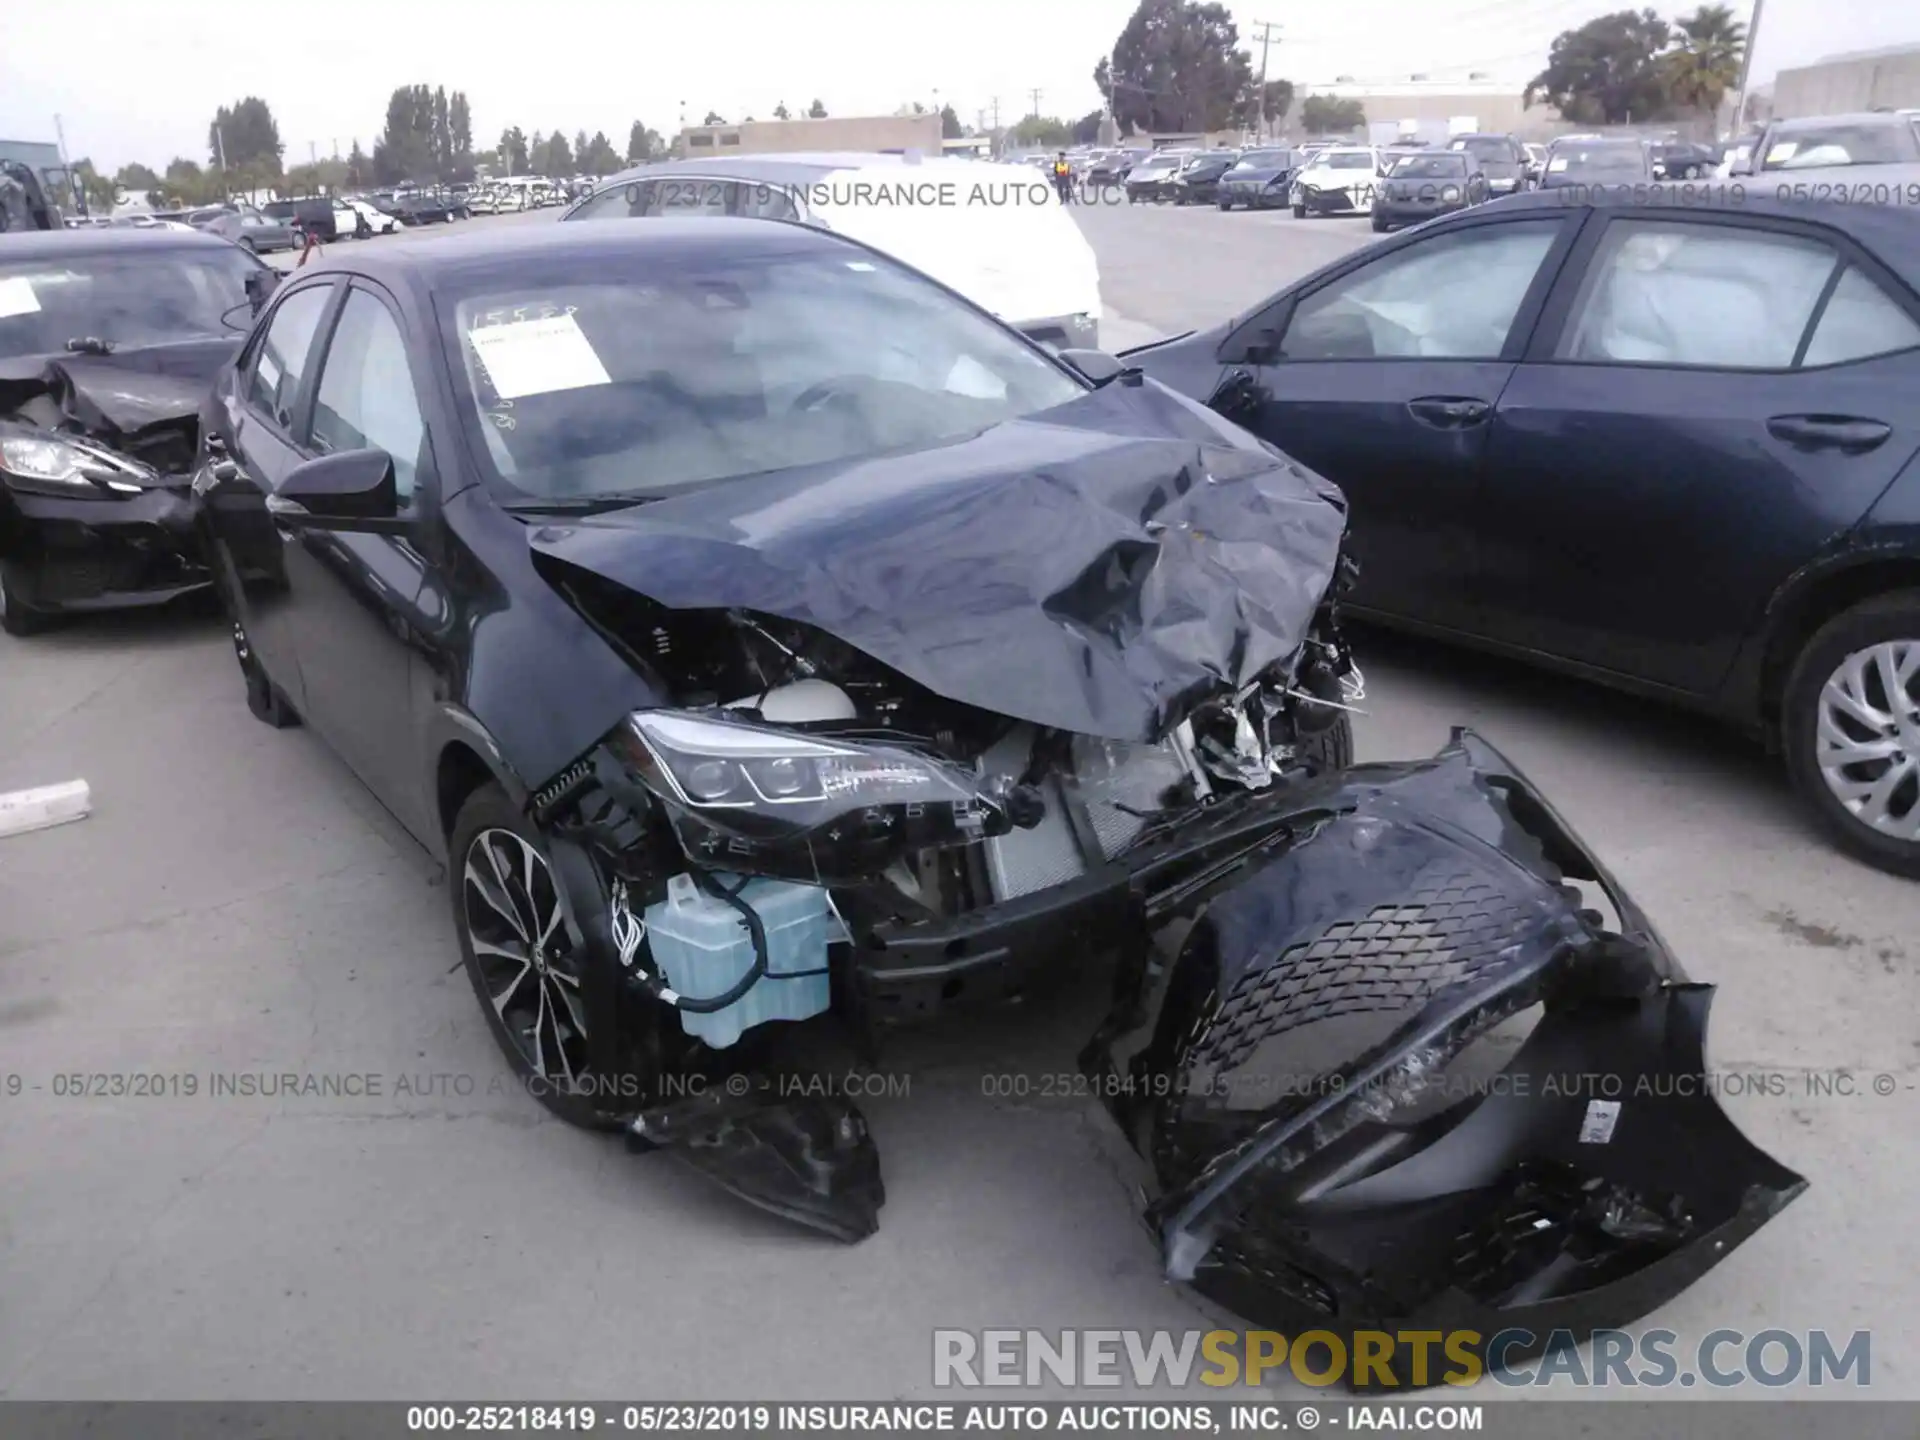
<svg viewBox="0 0 1920 1440"><path fill-rule="evenodd" d="M42 614L163 605L211 584L184 478L123 499L61 499L0 482L0 559L13 599Z"/></svg>

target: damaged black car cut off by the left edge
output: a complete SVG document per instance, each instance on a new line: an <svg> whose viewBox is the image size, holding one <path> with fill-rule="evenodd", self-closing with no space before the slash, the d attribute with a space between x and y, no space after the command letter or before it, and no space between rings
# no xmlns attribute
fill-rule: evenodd
<svg viewBox="0 0 1920 1440"><path fill-rule="evenodd" d="M271 271L238 246L180 230L0 236L10 634L60 612L205 589L188 493L198 417L253 319L250 276Z"/></svg>

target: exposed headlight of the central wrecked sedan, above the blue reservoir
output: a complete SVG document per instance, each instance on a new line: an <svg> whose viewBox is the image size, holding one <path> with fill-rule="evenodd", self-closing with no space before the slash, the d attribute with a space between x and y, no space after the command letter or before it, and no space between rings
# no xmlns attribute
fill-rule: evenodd
<svg viewBox="0 0 1920 1440"><path fill-rule="evenodd" d="M687 854L730 870L860 879L1012 829L1010 787L902 745L689 710L637 710L622 739Z"/></svg>

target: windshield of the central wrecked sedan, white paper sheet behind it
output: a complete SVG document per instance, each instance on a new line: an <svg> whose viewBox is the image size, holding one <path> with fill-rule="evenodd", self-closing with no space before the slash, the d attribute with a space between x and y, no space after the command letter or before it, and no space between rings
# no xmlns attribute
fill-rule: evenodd
<svg viewBox="0 0 1920 1440"><path fill-rule="evenodd" d="M476 447L534 501L937 445L1085 392L993 319L851 248L516 269L436 307Z"/></svg>

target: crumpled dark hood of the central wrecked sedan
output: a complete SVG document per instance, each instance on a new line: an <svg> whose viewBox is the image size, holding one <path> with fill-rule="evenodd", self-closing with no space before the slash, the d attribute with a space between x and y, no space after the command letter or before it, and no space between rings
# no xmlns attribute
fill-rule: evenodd
<svg viewBox="0 0 1920 1440"><path fill-rule="evenodd" d="M962 705L1152 741L1306 639L1340 492L1156 382L530 532L670 609L822 630Z"/></svg>

